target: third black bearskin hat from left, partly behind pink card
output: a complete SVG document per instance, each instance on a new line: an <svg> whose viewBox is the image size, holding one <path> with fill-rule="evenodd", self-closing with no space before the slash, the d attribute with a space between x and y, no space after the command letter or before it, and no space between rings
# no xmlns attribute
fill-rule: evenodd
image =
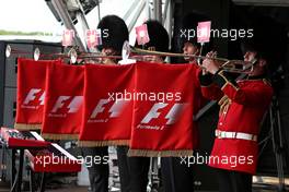
<svg viewBox="0 0 289 192"><path fill-rule="evenodd" d="M198 22L206 22L209 21L209 19L198 12L192 12L186 14L183 20L182 20L182 26L181 29L185 35L180 31L180 37L181 37L181 43L184 45L186 41L192 43L194 46L200 46L197 44L197 26ZM189 34L188 34L189 33Z"/></svg>

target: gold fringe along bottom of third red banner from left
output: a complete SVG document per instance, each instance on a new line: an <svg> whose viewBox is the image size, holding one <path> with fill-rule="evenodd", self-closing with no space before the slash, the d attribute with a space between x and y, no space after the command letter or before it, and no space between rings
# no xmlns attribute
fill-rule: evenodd
<svg viewBox="0 0 289 192"><path fill-rule="evenodd" d="M95 147L95 146L128 146L129 140L111 140L111 141L79 141L80 147Z"/></svg>

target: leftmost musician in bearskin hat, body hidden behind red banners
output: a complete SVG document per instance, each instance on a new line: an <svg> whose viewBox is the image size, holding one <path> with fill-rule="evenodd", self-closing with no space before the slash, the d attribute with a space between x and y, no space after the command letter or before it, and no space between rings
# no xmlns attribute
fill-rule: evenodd
<svg viewBox="0 0 289 192"><path fill-rule="evenodd" d="M124 20L116 15L106 15L104 16L97 28L107 35L102 34L102 45L99 45L97 48L102 51L102 55L105 56L119 56L122 52L123 44L125 40L128 40L128 29ZM117 60L103 58L101 60L103 64L117 64ZM95 133L96 134L96 133ZM83 156L94 158L95 156L101 157L102 159L108 157L108 147L82 147ZM127 163L126 163L126 151L124 146L117 147L117 158L118 158L118 168L119 172L127 172ZM91 164L88 165L91 192L108 192L108 164ZM127 191L129 178L126 175L120 177L120 188L122 191Z"/></svg>

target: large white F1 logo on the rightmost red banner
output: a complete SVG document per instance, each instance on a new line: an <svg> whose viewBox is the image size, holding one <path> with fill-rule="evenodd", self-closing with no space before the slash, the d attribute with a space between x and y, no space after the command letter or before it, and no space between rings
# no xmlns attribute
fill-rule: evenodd
<svg viewBox="0 0 289 192"><path fill-rule="evenodd" d="M161 109L165 108L169 104L157 103L152 106L147 116L141 120L141 123L149 123L152 119L158 119L161 115ZM170 111L166 113L167 119L165 124L174 124L182 113L186 104L174 104Z"/></svg>

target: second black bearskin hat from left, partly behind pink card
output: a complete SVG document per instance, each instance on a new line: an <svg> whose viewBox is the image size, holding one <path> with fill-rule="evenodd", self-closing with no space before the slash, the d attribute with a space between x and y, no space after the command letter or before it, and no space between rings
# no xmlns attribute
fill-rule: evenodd
<svg viewBox="0 0 289 192"><path fill-rule="evenodd" d="M169 34L162 24L153 20L149 20L143 24L147 24L150 37L150 41L143 46L144 49L154 47L157 51L169 51ZM142 46L137 45L137 43L136 47L142 48Z"/></svg>

